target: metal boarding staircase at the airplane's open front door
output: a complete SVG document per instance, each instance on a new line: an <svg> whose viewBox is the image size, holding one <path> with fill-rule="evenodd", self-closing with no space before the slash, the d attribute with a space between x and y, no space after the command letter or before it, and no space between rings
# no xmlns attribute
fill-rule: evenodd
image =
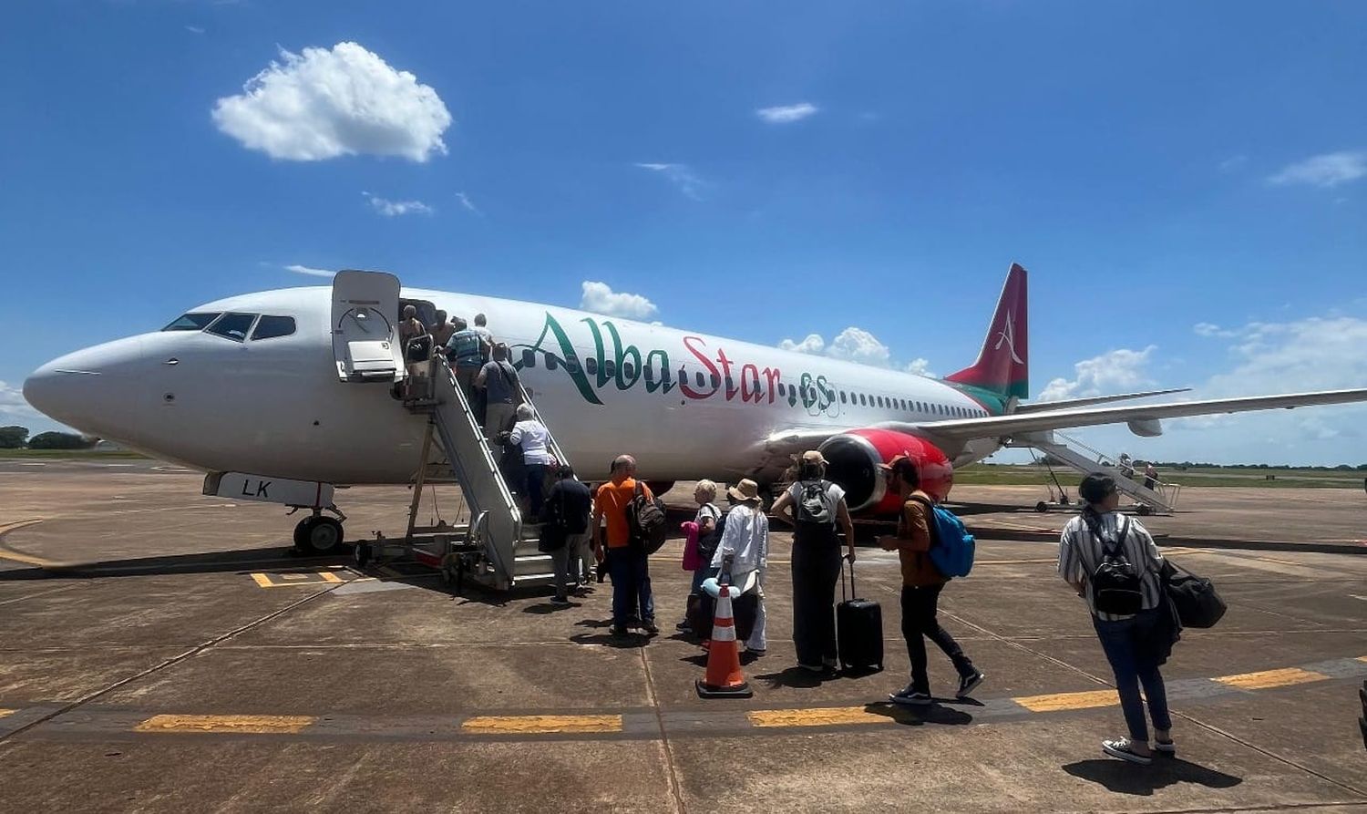
<svg viewBox="0 0 1367 814"><path fill-rule="evenodd" d="M551 584L555 580L551 557L537 550L540 527L522 517L514 493L499 469L498 451L484 438L474 410L450 368L439 354L433 354L425 382L420 376L410 383L429 387L428 393L405 402L409 412L428 417L405 540L413 557L439 568L443 579L458 583L473 579L495 590ZM522 387L521 383L518 387ZM536 410L525 389L522 399ZM540 412L536 417L545 423ZM433 461L433 441L443 453L437 461ZM554 435L548 446L555 460L565 464L565 451ZM433 483L461 487L469 506L468 523L417 524L424 487ZM429 542L420 542L425 536Z"/></svg>

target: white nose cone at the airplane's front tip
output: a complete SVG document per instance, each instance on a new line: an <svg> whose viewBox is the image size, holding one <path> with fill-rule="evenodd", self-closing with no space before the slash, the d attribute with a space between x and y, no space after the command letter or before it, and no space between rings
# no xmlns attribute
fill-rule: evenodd
<svg viewBox="0 0 1367 814"><path fill-rule="evenodd" d="M25 379L23 398L82 432L133 441L142 356L137 337L60 356Z"/></svg>

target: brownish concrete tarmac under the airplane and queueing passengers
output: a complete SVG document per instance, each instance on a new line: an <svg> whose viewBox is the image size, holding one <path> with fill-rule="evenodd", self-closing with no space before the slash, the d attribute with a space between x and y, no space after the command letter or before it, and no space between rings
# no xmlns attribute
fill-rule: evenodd
<svg viewBox="0 0 1367 814"><path fill-rule="evenodd" d="M0 810L1367 810L1355 491L1192 488L1144 518L1229 603L1165 668L1178 757L1148 767L1100 752L1122 721L1042 488L956 490L980 544L942 624L988 679L953 700L931 648L925 710L886 703L908 659L895 555L874 547L857 573L882 673L796 669L775 523L755 696L708 702L673 629L677 540L652 561L662 635L615 642L608 584L567 609L452 595L417 568L294 557L280 508L198 493L156 465L0 468ZM349 539L401 534L407 501L340 491Z"/></svg>

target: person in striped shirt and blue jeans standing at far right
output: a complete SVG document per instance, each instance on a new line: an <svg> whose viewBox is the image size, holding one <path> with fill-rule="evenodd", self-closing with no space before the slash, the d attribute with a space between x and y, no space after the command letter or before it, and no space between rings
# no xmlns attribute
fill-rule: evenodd
<svg viewBox="0 0 1367 814"><path fill-rule="evenodd" d="M1150 464L1152 465L1152 464ZM1163 555L1137 520L1117 512L1115 480L1095 472L1083 479L1077 494L1087 508L1068 521L1058 542L1058 573L1087 601L1092 627L1115 676L1129 737L1102 741L1113 758L1147 765L1154 751L1176 754L1167 690L1159 665L1172 650L1173 636L1163 613L1161 572ZM1139 695L1144 685L1143 699ZM1144 699L1154 720L1148 746Z"/></svg>

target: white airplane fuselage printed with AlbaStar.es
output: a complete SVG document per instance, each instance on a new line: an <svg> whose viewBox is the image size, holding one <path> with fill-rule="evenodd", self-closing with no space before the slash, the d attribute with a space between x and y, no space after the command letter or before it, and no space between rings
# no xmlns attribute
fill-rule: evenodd
<svg viewBox="0 0 1367 814"><path fill-rule="evenodd" d="M245 294L191 313L288 316L290 335L160 331L77 352L30 380L53 417L204 471L336 484L403 483L425 417L391 389L338 378L328 287ZM488 316L541 415L585 479L632 453L649 479L776 477L779 432L986 416L1002 405L919 375L663 326L489 297L406 289L406 301ZM85 387L81 405L44 391ZM995 439L945 449L956 465Z"/></svg>

